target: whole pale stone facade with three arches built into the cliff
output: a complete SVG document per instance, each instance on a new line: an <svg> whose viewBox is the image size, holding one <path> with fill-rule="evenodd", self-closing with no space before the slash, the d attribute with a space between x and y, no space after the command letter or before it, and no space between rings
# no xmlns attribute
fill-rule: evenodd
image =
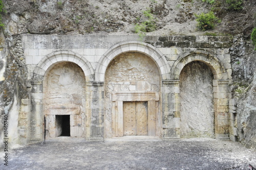
<svg viewBox="0 0 256 170"><path fill-rule="evenodd" d="M58 136L236 140L230 36L23 35L19 143ZM15 120L15 118L14 118Z"/></svg>

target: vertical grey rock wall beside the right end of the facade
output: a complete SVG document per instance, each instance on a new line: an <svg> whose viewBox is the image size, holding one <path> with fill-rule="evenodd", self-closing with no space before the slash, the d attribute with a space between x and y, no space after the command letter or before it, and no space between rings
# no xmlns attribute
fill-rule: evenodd
<svg viewBox="0 0 256 170"><path fill-rule="evenodd" d="M230 87L237 114L238 140L256 148L256 51L251 42L237 36L230 48L233 85ZM236 110L237 109L237 110Z"/></svg>

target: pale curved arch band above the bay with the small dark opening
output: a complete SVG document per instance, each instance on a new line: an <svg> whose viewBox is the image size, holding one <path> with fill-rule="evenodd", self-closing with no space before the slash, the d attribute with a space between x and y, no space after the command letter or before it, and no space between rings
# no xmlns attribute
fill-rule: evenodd
<svg viewBox="0 0 256 170"><path fill-rule="evenodd" d="M94 81L94 70L89 61L82 56L69 51L54 52L47 55L36 66L34 73L44 76L47 70L60 62L73 62L80 66L86 76L87 81Z"/></svg>

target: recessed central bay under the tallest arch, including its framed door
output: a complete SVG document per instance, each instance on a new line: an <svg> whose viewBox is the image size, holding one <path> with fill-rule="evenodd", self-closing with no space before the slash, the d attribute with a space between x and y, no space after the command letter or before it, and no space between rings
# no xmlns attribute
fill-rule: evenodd
<svg viewBox="0 0 256 170"><path fill-rule="evenodd" d="M122 53L105 75L105 137L160 136L161 78L155 62L142 53Z"/></svg>

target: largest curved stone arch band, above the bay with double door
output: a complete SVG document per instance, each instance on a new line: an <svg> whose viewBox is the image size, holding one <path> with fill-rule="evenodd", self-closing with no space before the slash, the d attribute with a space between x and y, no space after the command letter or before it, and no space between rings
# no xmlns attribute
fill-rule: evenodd
<svg viewBox="0 0 256 170"><path fill-rule="evenodd" d="M126 52L140 52L148 57L152 58L157 64L161 74L162 80L170 79L170 67L165 59L164 55L161 54L156 47L138 41L123 42L112 46L103 56L100 58L96 70L95 70L95 81L104 82L106 68L110 62L118 55Z"/></svg>

